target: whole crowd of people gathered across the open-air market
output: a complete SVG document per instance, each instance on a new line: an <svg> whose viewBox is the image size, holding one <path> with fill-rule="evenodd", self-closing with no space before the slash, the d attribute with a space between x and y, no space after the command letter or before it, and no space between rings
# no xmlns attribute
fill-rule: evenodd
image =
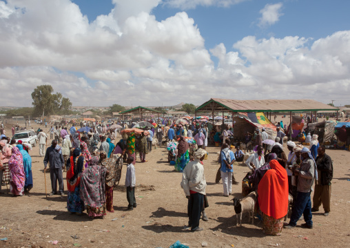
<svg viewBox="0 0 350 248"><path fill-rule="evenodd" d="M150 123L154 122L150 120ZM130 128L121 123L121 128ZM188 228L200 231L200 217L207 220L205 207L208 206L205 189L205 166L203 160L208 140L212 135L214 142L220 142L220 168L216 174L216 183L223 181L223 195L228 197L232 184L238 184L234 178L234 165L243 161L245 154L236 147L231 151L231 137L234 133L228 126L222 133L214 129L209 133L206 124L190 122L174 124L172 120L159 121L154 126L141 128L140 132L132 131L117 140L117 130L109 129L105 124L83 123L79 131L72 126L52 126L50 133L38 129L39 155L43 157L44 172L50 166L51 195L65 196L63 173L66 172L67 208L71 213L81 215L87 211L90 218L102 217L107 212L114 212L113 190L121 178L121 161L127 162L125 187L128 210L137 207L135 198L136 175L134 165L137 153L140 162L147 162L146 155L152 151L156 138L158 145L167 141L167 150L175 157L176 171L183 172L181 187L188 198ZM258 216L263 220L263 231L269 235L280 235L282 228L294 228L303 215L305 224L302 227L313 228L312 212L319 211L321 204L325 216L330 212L331 180L333 164L326 154L325 146L320 146L317 135L313 135L310 146L287 142L289 153L283 151L285 133L277 128L274 144L265 145L267 133L263 128L256 128L254 133L247 133L249 142L253 142L255 152L245 161L251 172L247 180L250 191L256 191ZM122 132L123 133L123 132ZM0 140L0 175L3 185L10 184L12 195L29 193L33 187L32 160L30 147L4 136ZM192 145L194 147L192 149ZM61 146L60 146L61 145ZM57 185L59 184L59 185ZM311 191L315 184L313 207ZM1 193L1 188L0 188ZM289 205L289 195L294 199L289 223L284 223Z"/></svg>

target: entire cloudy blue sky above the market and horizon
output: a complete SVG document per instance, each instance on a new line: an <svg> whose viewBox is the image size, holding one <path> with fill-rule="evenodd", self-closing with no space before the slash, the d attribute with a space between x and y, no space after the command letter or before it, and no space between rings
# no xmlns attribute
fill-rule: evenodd
<svg viewBox="0 0 350 248"><path fill-rule="evenodd" d="M0 0L0 106L350 104L350 1Z"/></svg>

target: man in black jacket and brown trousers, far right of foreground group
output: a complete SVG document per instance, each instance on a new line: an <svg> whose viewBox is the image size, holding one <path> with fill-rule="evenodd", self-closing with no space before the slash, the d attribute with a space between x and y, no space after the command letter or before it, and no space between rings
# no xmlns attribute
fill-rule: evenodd
<svg viewBox="0 0 350 248"><path fill-rule="evenodd" d="M321 204L325 209L324 216L329 215L331 211L331 180L333 179L333 162L331 157L326 154L326 147L318 147L318 156L316 158L318 180L315 181L315 192L313 193L312 212L317 212Z"/></svg>

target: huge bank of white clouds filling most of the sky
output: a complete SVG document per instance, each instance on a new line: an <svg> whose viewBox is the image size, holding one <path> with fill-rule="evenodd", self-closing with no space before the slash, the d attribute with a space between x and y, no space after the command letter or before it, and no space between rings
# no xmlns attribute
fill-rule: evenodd
<svg viewBox="0 0 350 248"><path fill-rule="evenodd" d="M247 36L232 48L207 50L186 12L157 21L150 12L159 1L135 10L134 1L114 3L89 23L68 0L0 1L0 106L31 106L41 84L76 106L201 104L210 97L349 103L350 30L315 41Z"/></svg>

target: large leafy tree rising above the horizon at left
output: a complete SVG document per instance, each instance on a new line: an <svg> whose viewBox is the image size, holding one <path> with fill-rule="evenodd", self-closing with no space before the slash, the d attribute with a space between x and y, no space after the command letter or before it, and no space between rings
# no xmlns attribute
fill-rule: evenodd
<svg viewBox="0 0 350 248"><path fill-rule="evenodd" d="M37 86L32 92L32 105L34 106L33 114L54 115L70 113L72 102L67 97L63 97L61 93L53 94L54 89L50 85Z"/></svg>

